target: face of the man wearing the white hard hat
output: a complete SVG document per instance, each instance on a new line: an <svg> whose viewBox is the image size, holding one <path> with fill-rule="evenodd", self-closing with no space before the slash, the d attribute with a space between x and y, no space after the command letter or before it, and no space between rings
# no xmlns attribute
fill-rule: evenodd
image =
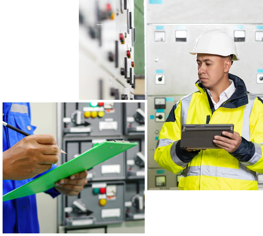
<svg viewBox="0 0 263 236"><path fill-rule="evenodd" d="M221 56L214 54L197 54L196 62L198 78L204 87L213 88L219 83L219 81L224 77L224 73L230 68L226 68L227 61L229 61L227 58L223 59Z"/></svg>

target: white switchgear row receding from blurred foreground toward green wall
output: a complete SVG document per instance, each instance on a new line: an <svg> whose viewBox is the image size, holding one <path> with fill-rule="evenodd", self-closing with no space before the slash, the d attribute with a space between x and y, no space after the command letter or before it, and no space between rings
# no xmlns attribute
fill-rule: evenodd
<svg viewBox="0 0 263 236"><path fill-rule="evenodd" d="M79 99L134 99L133 16L133 0L79 0Z"/></svg>

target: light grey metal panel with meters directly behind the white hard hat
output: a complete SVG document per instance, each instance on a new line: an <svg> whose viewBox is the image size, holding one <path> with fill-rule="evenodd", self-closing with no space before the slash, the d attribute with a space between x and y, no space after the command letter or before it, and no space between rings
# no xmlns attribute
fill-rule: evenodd
<svg viewBox="0 0 263 236"><path fill-rule="evenodd" d="M240 61L234 61L229 73L244 80L247 91L262 94L263 83L257 83L258 69L263 68L261 51L263 41L255 40L256 27L259 24L188 24L165 25L164 30L156 30L156 25L147 25L147 94L148 95L175 95L190 94L197 90L195 82L198 80L196 55L189 54L196 45L196 40L207 30L224 30L234 38L234 31L244 30L245 41L235 42ZM186 42L175 41L176 30L187 31ZM239 29L242 27L242 29ZM155 42L154 32L165 31L165 41ZM155 61L158 58L158 62ZM161 71L160 74L156 70ZM156 84L155 76L165 75L164 84Z"/></svg>

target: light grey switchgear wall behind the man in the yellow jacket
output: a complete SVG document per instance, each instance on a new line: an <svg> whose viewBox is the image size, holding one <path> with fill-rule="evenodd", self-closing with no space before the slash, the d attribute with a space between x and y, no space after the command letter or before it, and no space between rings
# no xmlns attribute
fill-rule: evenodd
<svg viewBox="0 0 263 236"><path fill-rule="evenodd" d="M209 5L189 0L180 1L179 7L173 0L146 1L148 190L178 190L180 173L161 168L154 160L154 151L173 105L196 91L196 57L189 52L202 33L218 29L234 39L240 61L234 61L229 73L244 80L247 91L263 97L263 22L259 2L233 0L226 6L221 0ZM239 14L233 14L232 9Z"/></svg>

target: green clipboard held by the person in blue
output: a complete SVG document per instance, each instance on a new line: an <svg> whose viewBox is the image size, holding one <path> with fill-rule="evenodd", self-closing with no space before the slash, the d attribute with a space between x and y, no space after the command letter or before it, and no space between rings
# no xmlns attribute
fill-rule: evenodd
<svg viewBox="0 0 263 236"><path fill-rule="evenodd" d="M102 142L100 144L95 143L91 149L78 157L3 195L3 201L29 196L38 192L45 192L53 188L56 181L80 171L88 170L136 145L136 142L129 143L128 141L118 140Z"/></svg>

